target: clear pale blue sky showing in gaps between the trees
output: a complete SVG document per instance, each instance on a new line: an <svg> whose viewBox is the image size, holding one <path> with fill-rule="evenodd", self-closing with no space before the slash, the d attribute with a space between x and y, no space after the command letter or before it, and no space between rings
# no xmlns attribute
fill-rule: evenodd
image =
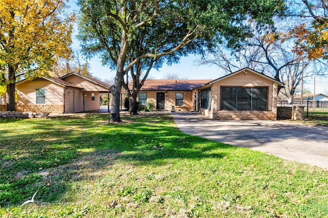
<svg viewBox="0 0 328 218"><path fill-rule="evenodd" d="M74 3L75 0L71 0L69 5L71 6L71 10L78 10L78 7ZM73 36L73 50L79 49L79 41L75 38L77 34L76 25L74 27L74 36ZM166 74L178 74L181 78L188 79L216 79L222 74L220 74L221 70L216 66L208 66L208 65L200 65L198 66L195 61L198 59L197 56L189 55L188 57L182 57L179 63L172 64L172 66L163 65L159 71L153 69L149 76L155 79L161 79ZM102 66L99 58L94 57L91 59L87 59L90 63L90 71L93 76L100 79L108 79L111 80L115 77L115 72L107 68L106 66ZM306 80L306 84L304 84L304 88L309 89L311 92L314 91L314 78L309 78ZM327 78L318 78L316 77L316 93L327 93L328 94L328 79Z"/></svg>

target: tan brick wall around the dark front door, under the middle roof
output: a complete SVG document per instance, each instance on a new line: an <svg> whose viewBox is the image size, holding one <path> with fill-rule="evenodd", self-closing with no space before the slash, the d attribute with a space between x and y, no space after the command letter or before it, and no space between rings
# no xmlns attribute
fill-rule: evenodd
<svg viewBox="0 0 328 218"><path fill-rule="evenodd" d="M191 111L192 110L192 93L189 91L140 91L139 93L147 93L147 101L153 100L156 106L156 93L165 93L165 110L171 111L172 105L175 107L175 111ZM183 93L183 106L175 105L175 94ZM139 95L137 97L139 100Z"/></svg>

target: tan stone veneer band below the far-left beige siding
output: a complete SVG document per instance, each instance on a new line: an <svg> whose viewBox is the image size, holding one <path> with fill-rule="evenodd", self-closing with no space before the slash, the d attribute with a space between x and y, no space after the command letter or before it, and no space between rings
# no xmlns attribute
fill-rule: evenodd
<svg viewBox="0 0 328 218"><path fill-rule="evenodd" d="M64 104L17 104L17 112L33 112L33 113L64 113Z"/></svg>

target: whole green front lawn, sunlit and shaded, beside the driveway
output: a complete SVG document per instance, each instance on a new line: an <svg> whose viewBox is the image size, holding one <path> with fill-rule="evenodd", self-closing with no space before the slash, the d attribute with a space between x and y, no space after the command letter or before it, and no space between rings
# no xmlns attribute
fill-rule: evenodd
<svg viewBox="0 0 328 218"><path fill-rule="evenodd" d="M0 216L327 217L324 169L183 134L170 115L107 120L1 120Z"/></svg>

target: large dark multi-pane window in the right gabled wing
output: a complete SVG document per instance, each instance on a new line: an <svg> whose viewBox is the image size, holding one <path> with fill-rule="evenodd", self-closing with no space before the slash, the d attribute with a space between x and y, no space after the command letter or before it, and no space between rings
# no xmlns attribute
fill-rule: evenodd
<svg viewBox="0 0 328 218"><path fill-rule="evenodd" d="M221 88L221 110L266 111L268 88Z"/></svg>

